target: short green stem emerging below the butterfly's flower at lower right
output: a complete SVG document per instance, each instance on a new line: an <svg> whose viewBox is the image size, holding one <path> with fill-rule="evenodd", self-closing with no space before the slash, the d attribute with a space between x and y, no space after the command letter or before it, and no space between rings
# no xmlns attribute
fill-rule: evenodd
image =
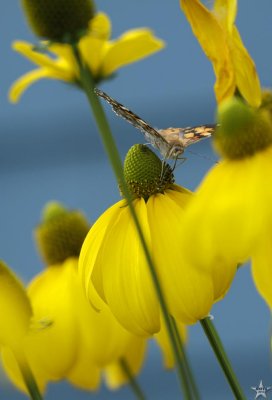
<svg viewBox="0 0 272 400"><path fill-rule="evenodd" d="M221 339L209 317L200 321L201 326L210 342L210 345L216 355L216 358L225 374L225 377L231 387L231 390L237 400L246 400L245 395L236 378L227 354L224 350Z"/></svg>

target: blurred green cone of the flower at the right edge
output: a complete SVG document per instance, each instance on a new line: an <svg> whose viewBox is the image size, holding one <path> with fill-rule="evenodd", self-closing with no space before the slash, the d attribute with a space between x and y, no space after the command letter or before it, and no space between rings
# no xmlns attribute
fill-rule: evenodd
<svg viewBox="0 0 272 400"><path fill-rule="evenodd" d="M272 120L265 109L233 98L219 106L218 123L214 144L225 158L242 159L272 145Z"/></svg>

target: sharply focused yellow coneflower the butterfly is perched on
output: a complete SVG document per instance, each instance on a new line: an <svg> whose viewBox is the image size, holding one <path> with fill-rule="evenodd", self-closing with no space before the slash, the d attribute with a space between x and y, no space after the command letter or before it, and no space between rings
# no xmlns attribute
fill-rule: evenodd
<svg viewBox="0 0 272 400"><path fill-rule="evenodd" d="M134 162L138 150L143 152L142 159L138 160L141 168L136 164L136 172L131 173L133 165L126 169L125 161L125 176L127 172L134 175L131 187L135 188L135 193L143 190L145 194L145 198L136 198L133 205L170 312L180 322L192 324L208 315L213 302L225 293L232 275L220 280L212 266L209 271L198 271L184 263L180 237L191 192L170 184L167 189L160 187L159 193L146 196L148 185L152 191L154 188L150 175L154 177L153 172L157 169L161 176L161 161L152 164L152 160L147 159L147 173L141 181L139 175L146 172L145 157L149 153L155 155L147 147L136 145L129 151L127 159L131 153ZM146 182L148 185L144 187ZM193 240L190 246L194 246ZM159 303L124 200L110 207L92 226L81 249L79 270L90 301L95 304L94 296L98 293L125 328L138 335L160 331Z"/></svg>

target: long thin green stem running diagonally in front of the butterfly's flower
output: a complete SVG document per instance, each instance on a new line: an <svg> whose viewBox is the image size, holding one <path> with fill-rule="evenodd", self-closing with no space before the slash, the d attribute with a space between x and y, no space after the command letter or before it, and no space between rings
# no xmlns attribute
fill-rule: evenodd
<svg viewBox="0 0 272 400"><path fill-rule="evenodd" d="M126 181L124 179L123 165L121 162L121 158L119 156L115 141L113 139L107 118L105 116L104 109L100 103L99 98L94 93L95 85L94 85L93 77L92 77L89 69L85 68L85 65L82 62L77 45L76 44L72 45L72 48L73 48L73 52L74 52L74 56L76 58L77 64L79 66L80 81L81 81L82 88L85 91L88 101L89 101L89 104L92 108L92 112L93 112L96 124L98 126L98 130L100 132L106 153L111 162L116 179L117 179L118 183L121 184L124 197L128 201L128 207L130 209L132 219L135 223L137 233L139 235L139 239L140 239L141 245L144 250L144 254L145 254L145 257L147 260L147 264L149 266L149 270L150 270L150 274L151 274L151 277L153 280L155 291L156 291L156 294L157 294L157 297L158 297L158 300L159 300L159 303L161 306L162 315L165 320L166 329L167 329L168 335L169 335L169 340L172 344L173 353L174 353L176 365L177 365L177 371L178 371L180 383L181 383L181 386L182 386L183 392L184 392L184 397L186 400L190 400L191 395L190 395L189 385L188 385L188 382L186 379L183 361L179 355L178 346L177 346L176 338L175 338L175 332L172 327L170 315L168 313L166 302L164 300L162 288L161 288L159 279L157 277L156 269L155 269L154 263L152 261L149 249L147 247L147 244L146 244L146 241L144 238L144 234L143 234L143 231L140 226L140 222L138 220L137 214L133 207L131 194L128 190Z"/></svg>

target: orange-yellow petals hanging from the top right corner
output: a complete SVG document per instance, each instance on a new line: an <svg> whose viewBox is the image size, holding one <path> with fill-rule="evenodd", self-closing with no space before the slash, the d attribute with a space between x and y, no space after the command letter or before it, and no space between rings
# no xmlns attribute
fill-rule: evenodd
<svg viewBox="0 0 272 400"><path fill-rule="evenodd" d="M236 88L253 107L261 103L261 88L256 68L234 25L237 0L215 0L210 11L199 0L180 0L192 30L216 76L218 102L231 97Z"/></svg>

